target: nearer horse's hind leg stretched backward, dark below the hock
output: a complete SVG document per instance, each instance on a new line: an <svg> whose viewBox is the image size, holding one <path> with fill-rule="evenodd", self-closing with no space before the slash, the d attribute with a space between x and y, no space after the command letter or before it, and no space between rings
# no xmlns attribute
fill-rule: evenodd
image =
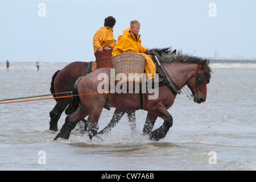
<svg viewBox="0 0 256 182"><path fill-rule="evenodd" d="M68 115L65 119L65 123L62 126L60 133L53 140L57 140L58 138L68 139L71 131L75 129L77 123L81 121L88 115L88 112L81 109L77 109L75 113Z"/></svg>

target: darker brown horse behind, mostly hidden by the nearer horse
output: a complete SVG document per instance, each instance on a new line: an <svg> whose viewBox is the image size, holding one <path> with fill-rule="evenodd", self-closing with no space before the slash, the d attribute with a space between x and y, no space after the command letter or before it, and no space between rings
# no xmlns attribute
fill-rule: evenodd
<svg viewBox="0 0 256 182"><path fill-rule="evenodd" d="M88 64L86 62L76 61L68 64L61 70L58 70L53 76L51 81L50 91L53 94L53 97L67 96L68 93L73 89L73 85L75 84L77 78L81 76L85 76L89 74L91 71L88 69ZM56 94L55 94L56 93ZM61 93L61 94L57 94ZM71 94L71 93L70 93ZM71 114L76 109L72 107L72 97L64 97L64 98L55 98L56 105L49 113L51 121L49 122L49 130L57 131L57 122L60 119L61 114L65 110L65 114ZM67 108L67 109L66 109ZM127 113L127 117L129 119L129 124L131 131L135 131L136 123L135 123L135 112L134 111L122 111L116 109L114 111L114 115L108 126L106 126L101 134L104 134L110 131L117 123L120 121L122 116ZM81 120L82 122L86 122L85 119ZM81 123L81 126L82 123ZM82 129L81 129L82 132Z"/></svg>

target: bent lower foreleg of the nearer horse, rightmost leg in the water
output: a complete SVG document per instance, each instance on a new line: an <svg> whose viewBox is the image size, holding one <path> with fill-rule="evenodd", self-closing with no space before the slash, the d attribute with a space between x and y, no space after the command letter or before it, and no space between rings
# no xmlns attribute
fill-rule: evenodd
<svg viewBox="0 0 256 182"><path fill-rule="evenodd" d="M166 118L164 118L164 123L158 129L152 131L150 133L150 139L158 141L164 137L166 137L167 132L169 131L170 127L172 126L172 116L168 114Z"/></svg>

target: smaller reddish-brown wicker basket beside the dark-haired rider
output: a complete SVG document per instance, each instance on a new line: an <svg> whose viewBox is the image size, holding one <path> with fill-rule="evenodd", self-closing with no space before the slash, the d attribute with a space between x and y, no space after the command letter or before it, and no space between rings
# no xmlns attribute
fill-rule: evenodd
<svg viewBox="0 0 256 182"><path fill-rule="evenodd" d="M105 47L110 47L105 49ZM103 52L96 51L94 53L96 57L97 69L99 68L113 68L113 56L112 56L113 47L104 46Z"/></svg>

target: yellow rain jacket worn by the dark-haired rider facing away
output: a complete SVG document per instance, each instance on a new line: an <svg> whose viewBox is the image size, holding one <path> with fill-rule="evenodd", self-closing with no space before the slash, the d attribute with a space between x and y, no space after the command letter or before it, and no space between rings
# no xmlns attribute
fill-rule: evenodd
<svg viewBox="0 0 256 182"><path fill-rule="evenodd" d="M116 40L113 36L113 30L110 27L101 27L93 37L93 49L94 52L98 51L99 48L109 45L115 47L117 45ZM106 47L109 48L109 47Z"/></svg>

